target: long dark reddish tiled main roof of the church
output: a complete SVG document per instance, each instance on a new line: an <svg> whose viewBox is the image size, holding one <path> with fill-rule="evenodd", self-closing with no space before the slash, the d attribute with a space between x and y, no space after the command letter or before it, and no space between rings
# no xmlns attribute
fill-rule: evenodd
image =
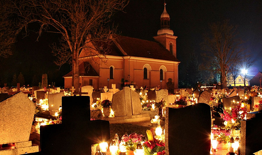
<svg viewBox="0 0 262 155"><path fill-rule="evenodd" d="M115 42L125 52L124 55L180 62L171 52L158 42L115 35ZM110 53L108 55L111 55ZM120 55L119 55L120 56Z"/></svg>

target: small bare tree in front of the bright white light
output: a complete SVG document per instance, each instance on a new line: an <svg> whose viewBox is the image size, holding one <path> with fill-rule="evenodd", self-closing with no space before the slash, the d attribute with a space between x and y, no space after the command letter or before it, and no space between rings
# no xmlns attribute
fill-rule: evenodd
<svg viewBox="0 0 262 155"><path fill-rule="evenodd" d="M250 52L243 54L242 61L240 63L241 78L244 81L244 86L246 86L246 78L248 71L252 65L254 65L255 60L252 59Z"/></svg>

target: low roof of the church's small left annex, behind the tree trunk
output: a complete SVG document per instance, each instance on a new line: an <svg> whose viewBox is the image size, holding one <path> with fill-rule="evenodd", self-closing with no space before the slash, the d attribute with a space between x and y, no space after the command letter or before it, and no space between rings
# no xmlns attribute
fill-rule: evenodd
<svg viewBox="0 0 262 155"><path fill-rule="evenodd" d="M72 76L72 71L64 75L63 77ZM98 73L88 62L82 62L79 64L79 76L99 76Z"/></svg>

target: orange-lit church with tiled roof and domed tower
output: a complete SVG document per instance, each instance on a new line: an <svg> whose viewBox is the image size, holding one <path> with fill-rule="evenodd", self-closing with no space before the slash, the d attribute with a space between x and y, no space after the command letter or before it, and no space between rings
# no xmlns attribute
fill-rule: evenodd
<svg viewBox="0 0 262 155"><path fill-rule="evenodd" d="M79 54L79 82L82 86L91 85L94 89L116 84L121 87L121 79L134 84L134 87L167 88L171 78L178 89L178 64L176 58L176 36L170 29L170 18L164 4L160 16L160 30L153 37L155 42L114 35L110 52L106 55L90 57L84 50ZM103 47L100 47L103 48ZM101 58L103 57L103 58ZM72 71L63 76L65 88L72 87Z"/></svg>

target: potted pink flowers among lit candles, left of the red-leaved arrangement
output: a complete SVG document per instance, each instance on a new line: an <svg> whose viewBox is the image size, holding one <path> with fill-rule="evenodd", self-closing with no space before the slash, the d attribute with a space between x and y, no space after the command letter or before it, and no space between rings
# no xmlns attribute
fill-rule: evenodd
<svg viewBox="0 0 262 155"><path fill-rule="evenodd" d="M125 142L124 146L127 150L134 151L137 147L137 143L141 141L142 134L132 133L128 136L128 134L124 134L122 136L122 140Z"/></svg>

